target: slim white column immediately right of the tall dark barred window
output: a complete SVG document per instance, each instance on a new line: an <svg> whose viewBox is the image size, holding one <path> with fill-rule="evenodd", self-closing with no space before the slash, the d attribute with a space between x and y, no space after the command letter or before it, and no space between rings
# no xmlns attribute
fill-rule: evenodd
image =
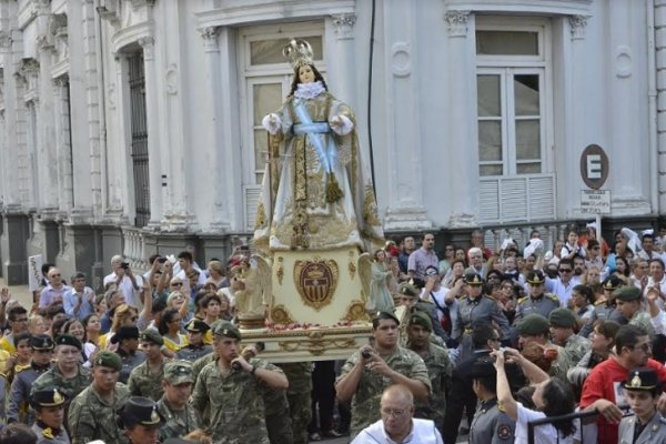
<svg viewBox="0 0 666 444"><path fill-rule="evenodd" d="M162 221L162 168L160 158L160 132L158 111L158 73L155 68L154 44L152 37L139 39L143 48L143 69L145 71L145 118L148 127L148 168L150 175L150 221L149 228L158 229Z"/></svg>

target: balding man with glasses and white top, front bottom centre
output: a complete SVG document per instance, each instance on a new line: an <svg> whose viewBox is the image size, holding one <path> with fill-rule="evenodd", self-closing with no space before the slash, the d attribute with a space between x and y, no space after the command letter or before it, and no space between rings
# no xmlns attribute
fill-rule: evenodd
<svg viewBox="0 0 666 444"><path fill-rule="evenodd" d="M363 428L352 444L442 444L442 435L430 420L415 420L414 395L404 385L391 385L380 401L382 418Z"/></svg>

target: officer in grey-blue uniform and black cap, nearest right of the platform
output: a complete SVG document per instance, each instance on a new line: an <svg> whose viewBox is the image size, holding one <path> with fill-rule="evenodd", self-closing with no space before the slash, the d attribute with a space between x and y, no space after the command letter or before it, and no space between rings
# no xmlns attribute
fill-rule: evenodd
<svg viewBox="0 0 666 444"><path fill-rule="evenodd" d="M472 329L474 325L495 322L502 331L502 340L508 340L509 337L508 321L500 310L497 301L482 294L482 290L483 279L480 274L465 275L466 295L458 300L457 316L451 334L460 343L458 362L465 361L474 352L474 345L472 344Z"/></svg>

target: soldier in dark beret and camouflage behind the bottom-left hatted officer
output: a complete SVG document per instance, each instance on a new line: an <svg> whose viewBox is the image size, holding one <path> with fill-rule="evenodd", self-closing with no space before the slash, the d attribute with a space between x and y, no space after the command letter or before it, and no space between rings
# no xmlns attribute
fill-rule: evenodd
<svg viewBox="0 0 666 444"><path fill-rule="evenodd" d="M34 381L30 393L58 387L67 398L64 403L67 415L69 403L90 385L92 375L79 362L82 349L81 341L71 334L62 334L56 337L54 343L56 365Z"/></svg>

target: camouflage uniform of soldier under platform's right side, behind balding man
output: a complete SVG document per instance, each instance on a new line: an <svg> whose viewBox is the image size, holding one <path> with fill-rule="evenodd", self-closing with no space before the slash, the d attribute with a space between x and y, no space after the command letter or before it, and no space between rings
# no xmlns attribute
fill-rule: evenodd
<svg viewBox="0 0 666 444"><path fill-rule="evenodd" d="M346 376L361 360L361 353L355 352L343 365L335 383ZM406 377L423 382L431 391L430 375L425 363L411 350L396 346L393 353L384 357L386 364L395 372ZM363 370L363 375L352 398L352 437L381 417L380 400L384 389L393 385L393 381L379 373ZM432 391L431 391L432 393Z"/></svg>

